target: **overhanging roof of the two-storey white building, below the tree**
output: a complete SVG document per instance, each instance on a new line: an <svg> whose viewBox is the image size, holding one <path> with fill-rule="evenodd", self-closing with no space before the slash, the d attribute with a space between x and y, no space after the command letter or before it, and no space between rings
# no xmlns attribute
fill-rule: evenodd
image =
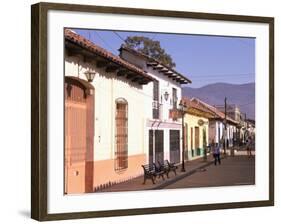
<svg viewBox="0 0 281 224"><path fill-rule="evenodd" d="M158 61L155 58L152 58L146 54L143 54L139 51L136 51L130 47L127 47L125 45L122 45L121 48L119 49L119 51L122 50L127 50L132 54L135 54L137 56L140 56L142 58L144 58L147 61L147 65L148 66L152 66L153 68L159 69L161 70L160 72L163 72L164 74L170 74L171 76L169 78L171 79L177 79L179 83L181 84L187 84L187 83L191 83L191 80L186 78L184 75L180 74L179 72L177 72L176 70L174 70L173 68L164 65L162 62ZM173 76L172 76L173 75Z"/></svg>

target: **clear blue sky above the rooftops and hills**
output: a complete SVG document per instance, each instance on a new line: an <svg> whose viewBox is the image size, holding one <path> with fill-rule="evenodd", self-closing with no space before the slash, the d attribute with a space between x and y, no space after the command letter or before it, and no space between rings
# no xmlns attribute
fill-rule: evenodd
<svg viewBox="0 0 281 224"><path fill-rule="evenodd" d="M255 82L255 39L190 34L163 34L74 29L95 44L119 55L127 36L146 36L160 41L176 63L176 70L198 88L217 82Z"/></svg>

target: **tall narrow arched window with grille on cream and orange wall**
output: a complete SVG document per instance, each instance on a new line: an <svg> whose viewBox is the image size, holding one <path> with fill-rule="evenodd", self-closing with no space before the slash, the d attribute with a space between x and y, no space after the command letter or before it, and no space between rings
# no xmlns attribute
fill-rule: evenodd
<svg viewBox="0 0 281 224"><path fill-rule="evenodd" d="M128 103L124 98L115 101L115 170L128 167Z"/></svg>

